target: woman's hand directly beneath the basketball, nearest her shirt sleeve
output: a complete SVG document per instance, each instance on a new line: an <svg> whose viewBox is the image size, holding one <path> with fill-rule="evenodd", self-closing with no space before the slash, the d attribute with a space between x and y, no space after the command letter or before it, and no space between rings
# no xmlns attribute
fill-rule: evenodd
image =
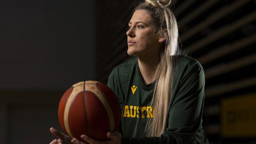
<svg viewBox="0 0 256 144"><path fill-rule="evenodd" d="M122 136L119 133L107 133L107 140L94 140L86 135L81 135L81 138L88 144L121 144ZM80 140L73 138L71 140L73 144L85 144L84 142L81 142Z"/></svg>

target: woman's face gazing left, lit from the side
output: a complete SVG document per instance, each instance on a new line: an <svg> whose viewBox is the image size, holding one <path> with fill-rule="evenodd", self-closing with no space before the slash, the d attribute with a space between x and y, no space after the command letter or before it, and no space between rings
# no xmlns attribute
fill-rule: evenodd
<svg viewBox="0 0 256 144"><path fill-rule="evenodd" d="M128 26L128 55L151 57L159 54L161 43L153 19L146 10L136 10Z"/></svg>

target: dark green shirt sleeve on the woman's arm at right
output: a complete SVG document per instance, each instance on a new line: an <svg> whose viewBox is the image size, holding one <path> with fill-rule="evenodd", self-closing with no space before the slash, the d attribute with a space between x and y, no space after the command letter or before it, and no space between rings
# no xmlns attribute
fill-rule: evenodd
<svg viewBox="0 0 256 144"><path fill-rule="evenodd" d="M191 66L186 70L173 95L174 101L169 109L166 131L160 137L122 137L122 144L192 144L197 141L198 129L202 129L204 84L203 69L198 65ZM195 143L208 143L207 138L200 138L203 140Z"/></svg>

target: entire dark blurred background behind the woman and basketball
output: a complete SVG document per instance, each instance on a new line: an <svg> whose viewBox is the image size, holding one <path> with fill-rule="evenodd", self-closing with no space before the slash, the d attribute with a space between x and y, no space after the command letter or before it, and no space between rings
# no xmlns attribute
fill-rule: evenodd
<svg viewBox="0 0 256 144"><path fill-rule="evenodd" d="M139 0L0 1L0 143L45 144L74 83L107 82L130 59ZM180 47L206 75L211 144L256 144L256 0L176 0Z"/></svg>

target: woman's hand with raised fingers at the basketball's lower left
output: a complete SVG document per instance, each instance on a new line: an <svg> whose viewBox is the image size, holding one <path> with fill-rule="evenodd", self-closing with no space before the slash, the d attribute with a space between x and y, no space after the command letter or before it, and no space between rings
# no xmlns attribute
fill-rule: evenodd
<svg viewBox="0 0 256 144"><path fill-rule="evenodd" d="M50 142L50 144L72 144L71 138L69 136L65 135L64 133L60 133L53 127L50 128L50 131L51 131L52 135L59 138L58 140L57 139L52 140L52 142Z"/></svg>

